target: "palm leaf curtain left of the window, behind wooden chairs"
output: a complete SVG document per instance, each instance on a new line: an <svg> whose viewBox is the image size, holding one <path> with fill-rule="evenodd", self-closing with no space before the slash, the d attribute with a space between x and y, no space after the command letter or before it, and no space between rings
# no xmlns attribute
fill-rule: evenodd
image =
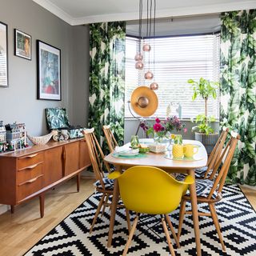
<svg viewBox="0 0 256 256"><path fill-rule="evenodd" d="M117 142L124 140L126 23L90 24L90 89L88 126L94 127L104 153L102 131L110 124Z"/></svg>

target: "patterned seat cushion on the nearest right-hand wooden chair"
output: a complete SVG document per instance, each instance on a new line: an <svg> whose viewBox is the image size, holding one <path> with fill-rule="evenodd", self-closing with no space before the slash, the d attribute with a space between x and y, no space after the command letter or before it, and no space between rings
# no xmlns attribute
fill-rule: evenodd
<svg viewBox="0 0 256 256"><path fill-rule="evenodd" d="M185 177L186 176L184 174L178 174L176 179L178 181L183 181ZM196 186L198 197L208 198L208 195L210 194L210 190L213 187L213 185L214 185L214 182L211 181L210 179L196 179L195 186ZM186 195L190 195L190 190L186 191ZM215 199L217 198L217 196L218 196L218 193L215 190L211 198Z"/></svg>

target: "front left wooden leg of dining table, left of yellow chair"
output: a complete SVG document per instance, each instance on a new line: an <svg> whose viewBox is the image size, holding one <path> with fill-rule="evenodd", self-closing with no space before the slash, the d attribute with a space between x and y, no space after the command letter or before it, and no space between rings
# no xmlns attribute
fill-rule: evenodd
<svg viewBox="0 0 256 256"><path fill-rule="evenodd" d="M114 180L113 198L112 198L112 202L111 202L109 238L107 240L108 247L111 247L111 243L112 243L112 236L113 236L113 230L114 230L114 219L115 219L115 213L116 213L117 205L118 205L118 198L119 198L118 180L115 179Z"/></svg>

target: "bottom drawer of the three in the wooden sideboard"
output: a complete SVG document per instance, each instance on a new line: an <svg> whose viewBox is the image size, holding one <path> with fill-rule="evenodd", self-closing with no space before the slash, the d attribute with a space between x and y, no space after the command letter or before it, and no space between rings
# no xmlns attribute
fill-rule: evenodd
<svg viewBox="0 0 256 256"><path fill-rule="evenodd" d="M43 187L43 174L38 174L35 178L30 178L17 185L17 202L34 194Z"/></svg>

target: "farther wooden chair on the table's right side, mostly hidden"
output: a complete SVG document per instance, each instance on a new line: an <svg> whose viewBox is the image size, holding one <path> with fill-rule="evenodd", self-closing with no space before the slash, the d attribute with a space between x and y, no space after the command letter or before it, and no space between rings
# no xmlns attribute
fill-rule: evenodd
<svg viewBox="0 0 256 256"><path fill-rule="evenodd" d="M210 156L207 161L207 165L196 169L194 172L195 178L213 178L212 170L214 169L214 166L218 162L218 158L221 156L222 149L224 146L224 143L226 142L226 136L229 132L229 128L223 127L222 128L222 134L219 136L218 141L216 142L214 149L211 151Z"/></svg>

